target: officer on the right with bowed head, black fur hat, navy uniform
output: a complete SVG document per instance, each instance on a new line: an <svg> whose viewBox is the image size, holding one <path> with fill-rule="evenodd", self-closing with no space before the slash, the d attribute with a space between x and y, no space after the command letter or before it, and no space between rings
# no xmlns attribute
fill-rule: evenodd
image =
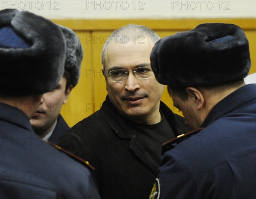
<svg viewBox="0 0 256 199"><path fill-rule="evenodd" d="M251 66L243 30L206 23L164 37L151 66L195 130L164 145L150 198L256 198L256 85L243 80Z"/></svg>

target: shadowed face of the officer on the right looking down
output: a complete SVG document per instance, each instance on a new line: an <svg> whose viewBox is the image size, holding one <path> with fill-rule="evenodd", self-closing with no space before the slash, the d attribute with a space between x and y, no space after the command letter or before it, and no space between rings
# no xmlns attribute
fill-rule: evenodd
<svg viewBox="0 0 256 199"><path fill-rule="evenodd" d="M187 100L181 99L174 93L171 94L173 105L182 111L185 118L185 124L188 124L192 129L201 127L202 121L200 120L200 111L197 110L197 104L191 98Z"/></svg>

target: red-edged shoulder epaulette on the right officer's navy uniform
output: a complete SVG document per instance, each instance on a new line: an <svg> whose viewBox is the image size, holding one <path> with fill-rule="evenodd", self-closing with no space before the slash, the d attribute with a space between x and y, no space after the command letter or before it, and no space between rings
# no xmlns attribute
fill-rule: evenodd
<svg viewBox="0 0 256 199"><path fill-rule="evenodd" d="M179 136L177 136L176 138L172 138L169 141L166 141L165 143L162 144L162 155L163 153L165 153L166 151L172 149L175 147L176 144L179 144L181 141L189 138L190 136L198 133L199 131L201 131L203 128L198 128L196 130L192 130L189 131L188 133L185 134L181 134Z"/></svg>

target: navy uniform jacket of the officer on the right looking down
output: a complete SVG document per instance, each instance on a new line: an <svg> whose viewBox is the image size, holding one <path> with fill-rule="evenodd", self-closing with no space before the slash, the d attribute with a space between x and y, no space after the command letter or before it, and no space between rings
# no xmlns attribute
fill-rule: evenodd
<svg viewBox="0 0 256 199"><path fill-rule="evenodd" d="M202 127L163 154L160 198L255 199L256 85L221 100Z"/></svg>

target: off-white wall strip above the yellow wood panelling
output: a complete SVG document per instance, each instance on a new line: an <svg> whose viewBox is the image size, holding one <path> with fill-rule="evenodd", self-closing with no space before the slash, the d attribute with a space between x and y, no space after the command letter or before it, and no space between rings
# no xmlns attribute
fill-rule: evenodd
<svg viewBox="0 0 256 199"><path fill-rule="evenodd" d="M170 19L254 17L255 0L0 0L0 9L54 19Z"/></svg>

